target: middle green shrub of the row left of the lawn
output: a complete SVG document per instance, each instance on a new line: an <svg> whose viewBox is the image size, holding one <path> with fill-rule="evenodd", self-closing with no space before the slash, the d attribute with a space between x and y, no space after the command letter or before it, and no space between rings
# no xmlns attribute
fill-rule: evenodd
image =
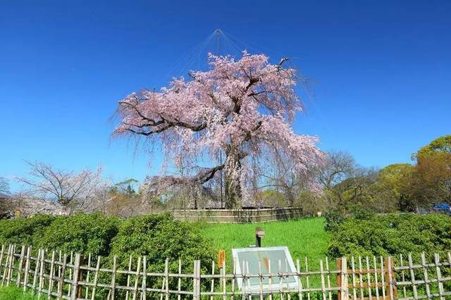
<svg viewBox="0 0 451 300"><path fill-rule="evenodd" d="M118 233L120 223L118 218L104 217L100 213L56 218L33 245L63 253L74 251L85 256L88 253L94 257L108 256L111 239Z"/></svg>

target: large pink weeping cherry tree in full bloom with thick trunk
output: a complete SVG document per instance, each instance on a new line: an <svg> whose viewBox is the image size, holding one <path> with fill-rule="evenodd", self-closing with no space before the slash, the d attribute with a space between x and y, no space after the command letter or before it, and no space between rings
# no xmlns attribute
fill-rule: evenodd
<svg viewBox="0 0 451 300"><path fill-rule="evenodd" d="M286 60L271 64L267 56L246 52L237 61L210 55L210 70L119 101L114 135L147 137L161 145L166 163L183 168L183 175L158 177L159 187L203 185L223 170L226 208L239 207L255 182L255 164L272 163L281 153L297 173L309 176L323 161L316 137L292 131L302 103L295 70L283 67ZM216 163L220 153L224 159Z"/></svg>

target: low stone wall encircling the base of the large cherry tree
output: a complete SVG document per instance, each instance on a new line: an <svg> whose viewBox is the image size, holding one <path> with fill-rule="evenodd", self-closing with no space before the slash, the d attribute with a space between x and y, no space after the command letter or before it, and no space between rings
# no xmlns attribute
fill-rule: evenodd
<svg viewBox="0 0 451 300"><path fill-rule="evenodd" d="M178 220L206 223L257 223L302 218L301 208L186 209L172 212Z"/></svg>

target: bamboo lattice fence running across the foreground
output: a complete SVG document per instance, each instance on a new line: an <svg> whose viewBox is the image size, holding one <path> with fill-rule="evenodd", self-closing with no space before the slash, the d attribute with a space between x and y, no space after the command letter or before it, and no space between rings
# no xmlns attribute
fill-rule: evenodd
<svg viewBox="0 0 451 300"><path fill-rule="evenodd" d="M160 270L146 256L119 261L89 254L3 245L1 286L16 285L40 299L451 299L451 254L419 257L328 258L295 261L295 271L250 272L246 261L218 268L216 262L163 262ZM242 265L241 265L242 264ZM238 272L237 269L240 269Z"/></svg>

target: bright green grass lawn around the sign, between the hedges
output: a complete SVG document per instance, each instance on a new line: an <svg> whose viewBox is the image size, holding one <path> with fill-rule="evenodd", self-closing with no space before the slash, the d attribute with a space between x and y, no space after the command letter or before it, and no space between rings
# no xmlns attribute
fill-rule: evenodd
<svg viewBox="0 0 451 300"><path fill-rule="evenodd" d="M288 246L292 258L317 267L319 260L326 254L328 233L324 230L324 218L303 218L299 220L252 223L252 224L209 224L199 223L204 237L211 240L215 249L226 250L231 261L232 248L244 248L255 244L255 227L261 227L266 233L262 246Z"/></svg>

